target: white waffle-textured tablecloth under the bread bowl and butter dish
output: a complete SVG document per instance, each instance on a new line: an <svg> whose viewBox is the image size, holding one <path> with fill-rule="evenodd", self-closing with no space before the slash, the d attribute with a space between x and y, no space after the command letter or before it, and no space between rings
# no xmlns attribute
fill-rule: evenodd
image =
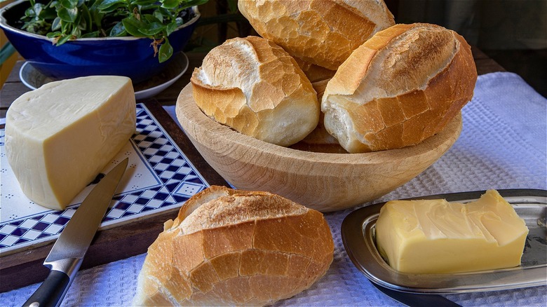
<svg viewBox="0 0 547 307"><path fill-rule="evenodd" d="M175 118L175 108L166 107ZM547 100L520 76L479 76L463 111L461 136L430 168L381 201L485 189L547 189ZM365 204L366 205L366 204ZM325 214L335 239L327 274L310 289L278 306L400 306L375 289L351 264L340 226L352 210ZM128 306L145 254L80 271L63 306ZM547 272L546 272L547 278ZM39 286L0 294L1 305L21 306ZM448 294L462 306L547 306L547 286Z"/></svg>

